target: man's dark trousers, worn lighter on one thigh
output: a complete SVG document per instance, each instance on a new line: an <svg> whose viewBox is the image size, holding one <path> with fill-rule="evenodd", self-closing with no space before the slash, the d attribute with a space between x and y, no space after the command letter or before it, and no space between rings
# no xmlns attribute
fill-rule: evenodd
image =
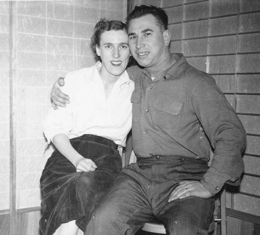
<svg viewBox="0 0 260 235"><path fill-rule="evenodd" d="M202 160L138 158L119 173L94 211L85 235L135 235L153 217L165 224L168 235L208 234L213 198L188 197L168 203L180 181L200 181L207 169Z"/></svg>

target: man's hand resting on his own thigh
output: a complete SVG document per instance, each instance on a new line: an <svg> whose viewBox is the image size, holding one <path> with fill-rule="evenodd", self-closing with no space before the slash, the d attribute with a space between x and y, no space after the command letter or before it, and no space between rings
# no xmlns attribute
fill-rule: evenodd
<svg viewBox="0 0 260 235"><path fill-rule="evenodd" d="M213 194L208 191L199 181L182 181L171 192L168 202L190 196L210 198Z"/></svg>

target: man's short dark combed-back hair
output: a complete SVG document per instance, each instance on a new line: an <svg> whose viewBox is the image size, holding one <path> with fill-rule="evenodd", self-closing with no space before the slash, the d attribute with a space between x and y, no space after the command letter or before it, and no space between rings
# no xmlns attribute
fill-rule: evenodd
<svg viewBox="0 0 260 235"><path fill-rule="evenodd" d="M153 15L159 26L163 29L166 30L168 26L168 16L165 12L164 9L156 6L136 6L135 9L128 15L126 19L126 25L129 27L129 23L133 19L140 18L145 15Z"/></svg>

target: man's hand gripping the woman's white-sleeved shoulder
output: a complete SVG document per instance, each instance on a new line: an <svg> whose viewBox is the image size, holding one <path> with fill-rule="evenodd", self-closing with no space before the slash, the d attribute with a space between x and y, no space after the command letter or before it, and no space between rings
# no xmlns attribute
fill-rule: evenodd
<svg viewBox="0 0 260 235"><path fill-rule="evenodd" d="M66 104L69 104L70 97L67 94L61 92L60 87L64 86L64 78L60 77L53 85L50 93L50 98L52 101L52 108L58 109L57 106L66 107Z"/></svg>

